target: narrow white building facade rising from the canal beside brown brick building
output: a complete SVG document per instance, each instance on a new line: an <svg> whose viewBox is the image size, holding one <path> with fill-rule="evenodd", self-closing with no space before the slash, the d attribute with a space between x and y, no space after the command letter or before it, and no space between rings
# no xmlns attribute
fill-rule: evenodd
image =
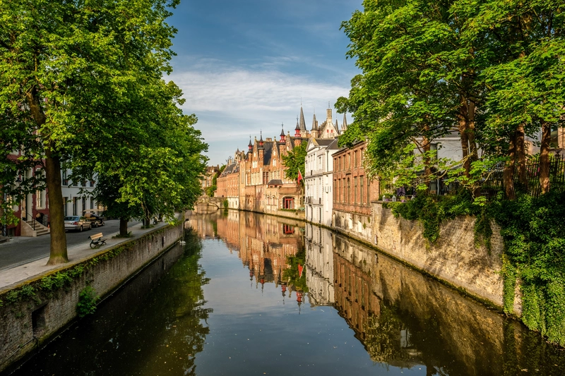
<svg viewBox="0 0 565 376"><path fill-rule="evenodd" d="M307 221L331 226L333 207L333 153L338 140L310 138L304 171L304 200Z"/></svg>

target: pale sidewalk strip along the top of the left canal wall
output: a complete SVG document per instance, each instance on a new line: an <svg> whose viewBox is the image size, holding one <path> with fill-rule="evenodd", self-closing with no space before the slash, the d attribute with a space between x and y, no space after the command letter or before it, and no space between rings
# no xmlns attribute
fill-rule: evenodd
<svg viewBox="0 0 565 376"><path fill-rule="evenodd" d="M125 243L126 241L131 241L132 239L139 238L143 234L146 234L155 229L160 229L161 227L167 226L167 224L160 222L150 229L141 229L141 226L142 224L140 223L129 228L129 231L131 231L132 235L131 238L112 238L112 236L119 234L119 231L105 235L104 238L107 239L106 245L100 248L90 248L90 241L85 241L83 244L74 245L73 247L67 248L69 262L67 262L66 264L46 265L47 260L49 260L49 256L47 256L42 257L39 260L28 262L27 264L13 267L11 269L1 270L0 293L11 289L13 287L12 285L18 284L18 282L25 281L26 279L31 279L33 277L36 277L37 275L49 272L50 270L63 269L71 265L78 264L79 262L87 260L89 257L95 255L96 253L99 253L102 250L107 250L108 248L112 248L114 245L117 245L119 243ZM95 234L95 232L93 232L93 234Z"/></svg>

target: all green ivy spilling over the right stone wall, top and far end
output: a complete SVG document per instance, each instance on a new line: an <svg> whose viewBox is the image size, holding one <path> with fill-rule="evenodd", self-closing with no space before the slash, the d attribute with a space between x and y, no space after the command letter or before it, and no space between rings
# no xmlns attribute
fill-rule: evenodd
<svg viewBox="0 0 565 376"><path fill-rule="evenodd" d="M487 205L473 205L469 193L419 195L408 202L385 202L395 217L418 220L429 242L439 239L439 227L458 215L475 216L475 243L490 249L494 219L504 239L501 274L504 312L513 313L516 281L521 283L522 321L530 329L565 346L565 193L534 198L501 196Z"/></svg>

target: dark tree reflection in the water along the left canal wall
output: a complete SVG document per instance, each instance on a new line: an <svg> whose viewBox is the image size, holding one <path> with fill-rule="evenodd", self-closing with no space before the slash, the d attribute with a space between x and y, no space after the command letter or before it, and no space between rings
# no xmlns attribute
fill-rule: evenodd
<svg viewBox="0 0 565 376"><path fill-rule="evenodd" d="M166 368L196 375L211 311L198 267L201 243L191 234L184 240L14 374L159 375Z"/></svg>

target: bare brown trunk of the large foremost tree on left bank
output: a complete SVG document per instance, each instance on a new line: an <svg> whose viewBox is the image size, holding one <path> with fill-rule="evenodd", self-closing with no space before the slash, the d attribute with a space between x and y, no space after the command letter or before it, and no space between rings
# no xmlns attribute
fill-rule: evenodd
<svg viewBox="0 0 565 376"><path fill-rule="evenodd" d="M30 112L37 128L47 121L40 105L37 90L32 88L26 94ZM49 135L45 137L49 140ZM49 226L51 228L51 250L47 265L56 265L69 262L66 253L66 234L63 209L63 191L61 190L61 159L55 152L53 140L49 140L45 147L45 181L47 183L47 195L49 198Z"/></svg>

